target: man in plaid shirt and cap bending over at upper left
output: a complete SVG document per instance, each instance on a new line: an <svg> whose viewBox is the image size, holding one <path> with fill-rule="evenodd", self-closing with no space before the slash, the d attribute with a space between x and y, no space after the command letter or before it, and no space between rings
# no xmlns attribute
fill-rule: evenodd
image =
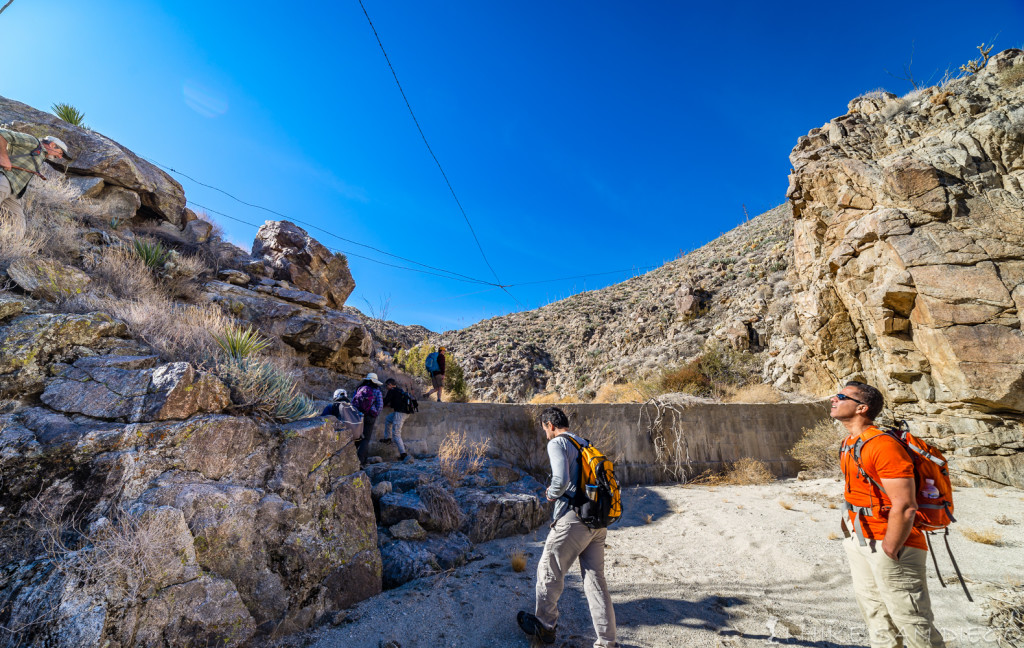
<svg viewBox="0 0 1024 648"><path fill-rule="evenodd" d="M68 144L47 135L37 139L27 133L0 128L0 211L25 222L22 197L34 177L42 177L46 160L71 160Z"/></svg>

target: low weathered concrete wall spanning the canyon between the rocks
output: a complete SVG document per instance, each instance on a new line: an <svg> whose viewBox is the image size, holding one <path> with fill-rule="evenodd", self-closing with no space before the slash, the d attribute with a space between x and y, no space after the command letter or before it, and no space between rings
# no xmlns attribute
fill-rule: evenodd
<svg viewBox="0 0 1024 648"><path fill-rule="evenodd" d="M449 432L465 431L469 441L487 441L490 455L544 473L547 455L537 421L546 406L421 402L402 437L409 451L433 455ZM624 484L678 478L680 473L658 460L656 441L683 464L688 477L722 470L744 457L768 464L778 476L795 475L799 466L788 450L804 428L827 416L823 403L693 404L663 409L658 424L654 408L642 404L559 406L573 431L612 457Z"/></svg>

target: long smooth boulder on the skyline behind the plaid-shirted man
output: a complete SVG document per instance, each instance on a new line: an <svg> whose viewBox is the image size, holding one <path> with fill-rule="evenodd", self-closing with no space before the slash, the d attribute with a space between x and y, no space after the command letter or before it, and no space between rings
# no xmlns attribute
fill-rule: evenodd
<svg viewBox="0 0 1024 648"><path fill-rule="evenodd" d="M110 185L91 187L90 198L129 205L135 199L129 198L125 203L117 187L128 189L138 196L139 204L154 216L178 227L184 225L185 195L181 185L113 139L3 96L0 96L0 123L36 137L56 135L67 142L74 157L68 166L69 173L101 178Z"/></svg>

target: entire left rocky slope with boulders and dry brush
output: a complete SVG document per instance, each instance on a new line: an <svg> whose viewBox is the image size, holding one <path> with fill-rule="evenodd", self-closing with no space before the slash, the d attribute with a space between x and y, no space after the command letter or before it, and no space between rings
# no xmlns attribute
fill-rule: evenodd
<svg viewBox="0 0 1024 648"><path fill-rule="evenodd" d="M0 213L0 646L239 646L548 515L495 461L372 483L314 416L390 370L343 256L284 221L250 254L117 142L2 97L0 123L76 156Z"/></svg>

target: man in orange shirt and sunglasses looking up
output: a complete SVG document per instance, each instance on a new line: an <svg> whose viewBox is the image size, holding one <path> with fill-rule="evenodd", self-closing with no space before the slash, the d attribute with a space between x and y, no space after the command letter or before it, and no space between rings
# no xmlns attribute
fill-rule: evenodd
<svg viewBox="0 0 1024 648"><path fill-rule="evenodd" d="M913 462L897 439L874 427L884 404L878 389L858 382L831 397L831 418L850 433L842 447L843 530L852 524L854 532L843 545L871 648L937 648L945 644L928 596L928 546L914 528Z"/></svg>

